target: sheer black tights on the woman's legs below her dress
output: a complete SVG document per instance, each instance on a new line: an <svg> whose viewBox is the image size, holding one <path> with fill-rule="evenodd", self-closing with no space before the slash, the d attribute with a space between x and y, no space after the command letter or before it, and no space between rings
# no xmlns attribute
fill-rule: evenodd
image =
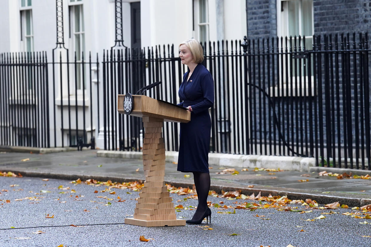
<svg viewBox="0 0 371 247"><path fill-rule="evenodd" d="M198 220L207 210L207 196L210 190L210 173L193 172L194 186L196 187L198 206L192 220Z"/></svg>

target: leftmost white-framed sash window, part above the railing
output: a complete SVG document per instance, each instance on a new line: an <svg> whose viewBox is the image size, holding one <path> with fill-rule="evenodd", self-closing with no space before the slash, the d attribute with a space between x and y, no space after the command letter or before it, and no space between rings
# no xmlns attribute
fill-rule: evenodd
<svg viewBox="0 0 371 247"><path fill-rule="evenodd" d="M21 41L24 51L33 51L33 26L31 0L21 0Z"/></svg>

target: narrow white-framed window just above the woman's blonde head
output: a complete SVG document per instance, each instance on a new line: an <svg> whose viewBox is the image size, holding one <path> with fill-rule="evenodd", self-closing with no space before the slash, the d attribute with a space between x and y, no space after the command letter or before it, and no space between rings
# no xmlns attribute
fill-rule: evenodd
<svg viewBox="0 0 371 247"><path fill-rule="evenodd" d="M209 42L208 0L193 0L194 36L201 43Z"/></svg>

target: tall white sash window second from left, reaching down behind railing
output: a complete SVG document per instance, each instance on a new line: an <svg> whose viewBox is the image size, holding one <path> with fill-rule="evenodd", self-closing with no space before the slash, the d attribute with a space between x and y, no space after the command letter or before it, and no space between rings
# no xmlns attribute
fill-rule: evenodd
<svg viewBox="0 0 371 247"><path fill-rule="evenodd" d="M77 89L82 90L86 88L85 81L82 85L82 53L84 53L84 61L86 60L85 54L85 30L84 30L84 13L82 0L70 0L70 44L73 47L72 58L75 59L76 52L76 80ZM84 70L85 72L85 70ZM75 74L71 73L73 86L75 85ZM85 78L85 77L84 77Z"/></svg>

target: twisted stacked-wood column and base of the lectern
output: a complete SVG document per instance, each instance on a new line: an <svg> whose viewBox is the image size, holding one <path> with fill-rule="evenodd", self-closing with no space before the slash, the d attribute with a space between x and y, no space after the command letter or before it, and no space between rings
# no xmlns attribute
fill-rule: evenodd
<svg viewBox="0 0 371 247"><path fill-rule="evenodd" d="M133 218L125 224L136 226L184 226L177 219L174 203L165 186L165 143L162 136L163 119L143 117L143 170L144 187L139 193Z"/></svg>

